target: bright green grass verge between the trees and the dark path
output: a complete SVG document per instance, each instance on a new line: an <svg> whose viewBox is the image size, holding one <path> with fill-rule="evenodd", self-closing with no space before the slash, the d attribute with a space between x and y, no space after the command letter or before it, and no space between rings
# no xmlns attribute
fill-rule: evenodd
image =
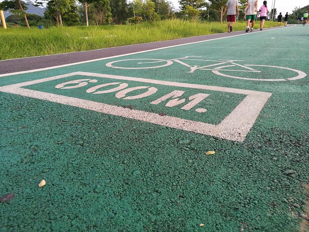
<svg viewBox="0 0 309 232"><path fill-rule="evenodd" d="M256 28L259 27L259 21ZM276 26L265 22L264 28ZM237 21L234 31L244 30ZM165 20L152 24L0 29L0 60L86 51L129 44L224 33L226 23Z"/></svg>

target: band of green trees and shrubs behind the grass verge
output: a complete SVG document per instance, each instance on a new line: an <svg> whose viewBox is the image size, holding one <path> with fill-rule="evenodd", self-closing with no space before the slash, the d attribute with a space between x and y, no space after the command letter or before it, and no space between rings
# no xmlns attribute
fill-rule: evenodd
<svg viewBox="0 0 309 232"><path fill-rule="evenodd" d="M223 15L226 2L227 0L179 0L180 9L176 11L169 0L36 0L36 6L45 8L43 17L26 15L27 3L24 0L3 0L0 2L0 9L14 14L6 20L9 25L15 26L140 24L174 18L222 23L226 19L226 15ZM238 20L243 20L247 0L238 0L238 3ZM289 20L296 23L297 17L308 9L309 5L296 7ZM268 18L276 14L276 9L271 9Z"/></svg>

